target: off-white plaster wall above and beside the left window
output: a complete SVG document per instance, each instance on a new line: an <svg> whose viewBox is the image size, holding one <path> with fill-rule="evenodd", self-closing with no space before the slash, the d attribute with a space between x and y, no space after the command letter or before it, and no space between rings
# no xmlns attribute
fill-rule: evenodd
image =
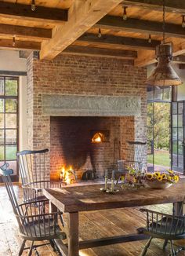
<svg viewBox="0 0 185 256"><path fill-rule="evenodd" d="M0 50L0 71L27 71L27 60L18 51ZM20 76L19 126L20 150L27 148L27 77Z"/></svg>

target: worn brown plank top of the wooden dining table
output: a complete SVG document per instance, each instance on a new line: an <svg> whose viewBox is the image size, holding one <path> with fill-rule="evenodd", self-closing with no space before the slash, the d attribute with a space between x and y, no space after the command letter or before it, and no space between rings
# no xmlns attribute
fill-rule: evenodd
<svg viewBox="0 0 185 256"><path fill-rule="evenodd" d="M46 188L44 195L63 212L140 207L151 204L183 201L185 179L170 188L139 188L121 190L115 194L100 191L103 185Z"/></svg>

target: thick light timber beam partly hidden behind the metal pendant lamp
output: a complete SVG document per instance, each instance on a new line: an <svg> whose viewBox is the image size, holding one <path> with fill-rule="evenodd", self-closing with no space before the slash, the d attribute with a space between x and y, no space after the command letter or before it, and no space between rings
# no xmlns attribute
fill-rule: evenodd
<svg viewBox="0 0 185 256"><path fill-rule="evenodd" d="M173 56L180 56L185 53L185 40L184 39L175 39L169 38L169 42L173 43ZM151 50L143 50L140 49L138 51L138 57L134 60L135 65L139 67L147 66L148 64L152 64L156 62L155 53Z"/></svg>

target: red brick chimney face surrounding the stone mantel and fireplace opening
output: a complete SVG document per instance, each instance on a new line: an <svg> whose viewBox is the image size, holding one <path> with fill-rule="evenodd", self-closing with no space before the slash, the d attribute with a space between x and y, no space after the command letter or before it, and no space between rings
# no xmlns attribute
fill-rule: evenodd
<svg viewBox="0 0 185 256"><path fill-rule="evenodd" d="M27 126L30 149L50 149L50 117L42 115L42 93L141 97L141 115L120 119L121 158L126 158L127 140L146 141L146 68L131 60L60 55L54 60L27 59ZM50 163L48 160L48 175ZM57 171L51 175L57 178Z"/></svg>

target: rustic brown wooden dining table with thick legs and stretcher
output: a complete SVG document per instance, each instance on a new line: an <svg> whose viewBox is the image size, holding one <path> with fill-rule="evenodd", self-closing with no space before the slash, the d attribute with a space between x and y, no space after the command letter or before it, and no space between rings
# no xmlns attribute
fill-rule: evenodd
<svg viewBox="0 0 185 256"><path fill-rule="evenodd" d="M177 184L165 189L124 189L118 193L109 194L102 192L100 190L102 187L103 185L82 185L44 189L44 195L49 199L52 210L56 210L57 208L61 212L67 213L67 244L60 241L60 250L63 255L78 256L80 249L147 239L146 235L136 232L123 236L79 241L78 226L80 224L78 215L82 211L173 203L174 212L176 211L176 214L178 214L178 210L185 196L184 178L180 179Z"/></svg>

